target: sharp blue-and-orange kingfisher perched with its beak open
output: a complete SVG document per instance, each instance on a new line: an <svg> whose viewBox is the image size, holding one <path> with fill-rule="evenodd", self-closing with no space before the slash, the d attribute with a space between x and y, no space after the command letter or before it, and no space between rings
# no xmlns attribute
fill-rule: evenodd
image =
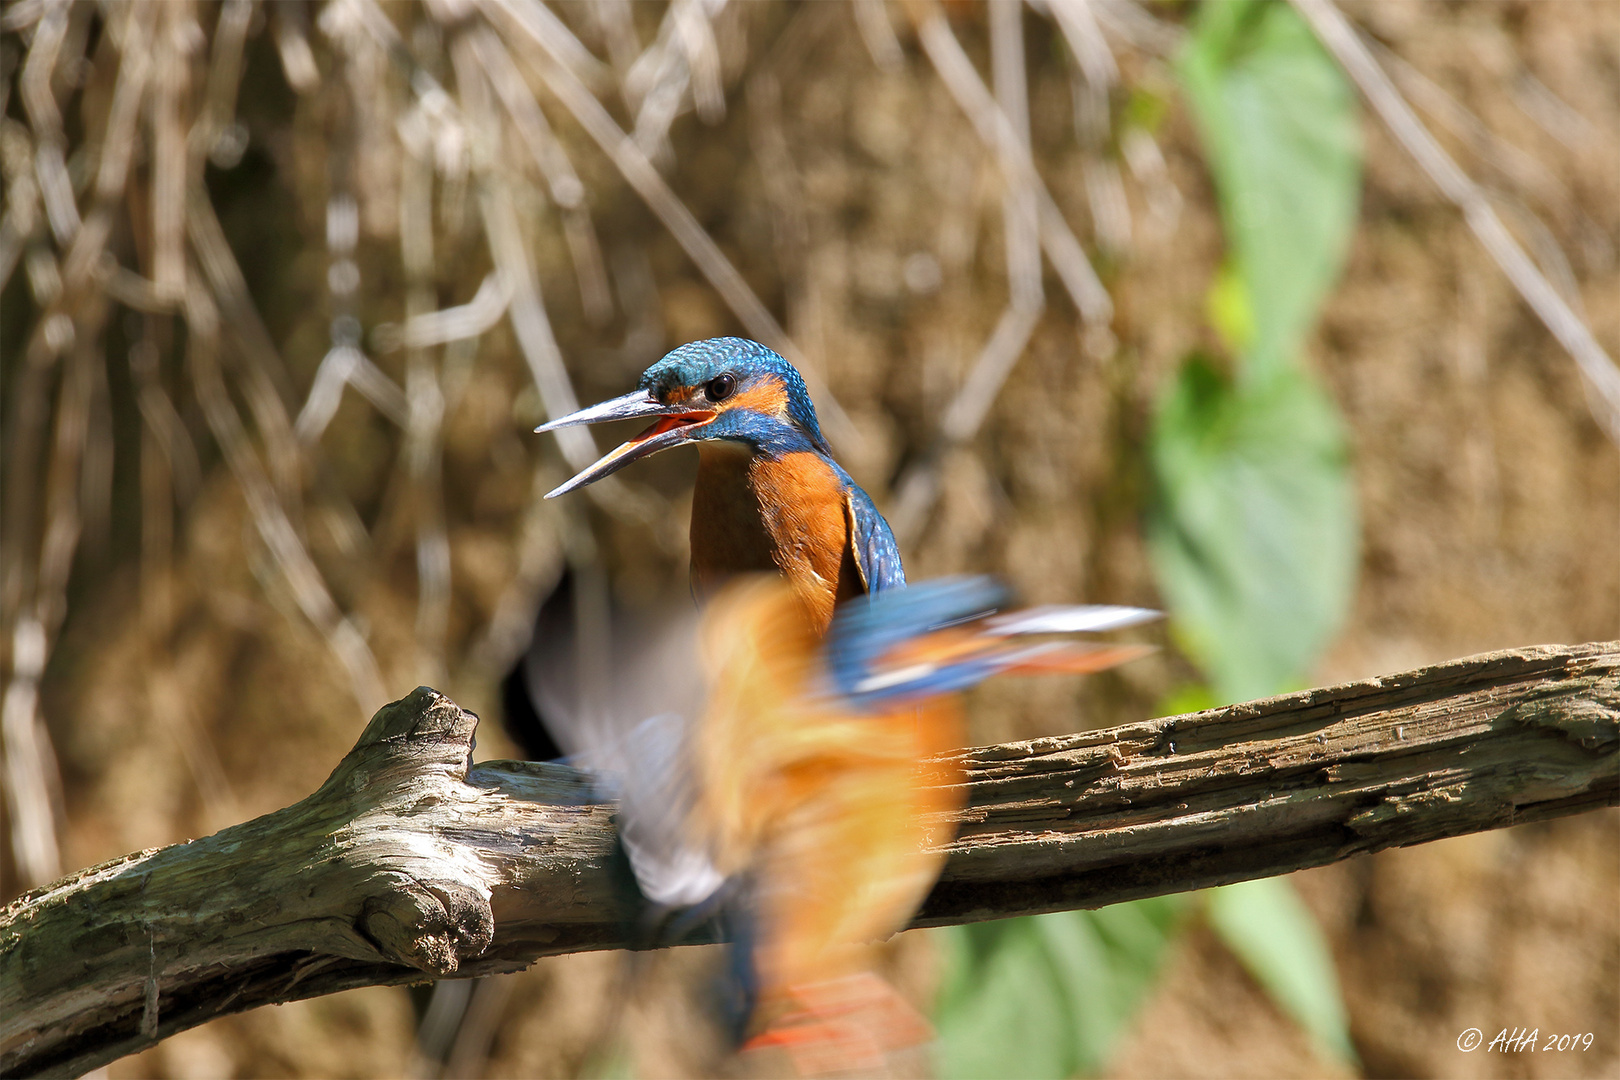
<svg viewBox="0 0 1620 1080"><path fill-rule="evenodd" d="M630 393L535 431L637 416L658 421L546 497L692 444L698 596L737 573L779 572L821 633L841 601L906 585L889 523L833 460L804 379L774 351L740 337L692 342L648 368Z"/></svg>

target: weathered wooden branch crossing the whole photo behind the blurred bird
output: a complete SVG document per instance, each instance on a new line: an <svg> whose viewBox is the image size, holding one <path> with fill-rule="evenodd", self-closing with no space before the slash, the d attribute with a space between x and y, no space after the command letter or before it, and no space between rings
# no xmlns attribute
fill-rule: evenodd
<svg viewBox="0 0 1620 1080"><path fill-rule="evenodd" d="M564 766L471 766L476 722L420 688L301 803L11 902L0 1074L78 1075L262 1004L624 947L642 900L612 806ZM915 925L1100 907L1615 805L1617 751L1615 641L969 750L969 808Z"/></svg>

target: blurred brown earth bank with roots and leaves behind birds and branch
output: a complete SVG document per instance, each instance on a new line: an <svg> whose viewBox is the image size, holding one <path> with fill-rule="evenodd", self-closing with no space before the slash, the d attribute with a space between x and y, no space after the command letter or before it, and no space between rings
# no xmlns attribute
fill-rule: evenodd
<svg viewBox="0 0 1620 1080"><path fill-rule="evenodd" d="M492 721L564 567L684 596L692 461L541 504L595 445L528 429L716 334L804 368L912 576L1170 610L1152 661L978 691L975 742L1620 636L1601 372L1299 10L6 6L0 895L303 797L418 683ZM1620 8L1345 11L1614 351ZM1617 834L902 934L888 975L941 1075L1614 1075ZM616 957L561 957L110 1072L706 1075L713 962L624 1015Z"/></svg>

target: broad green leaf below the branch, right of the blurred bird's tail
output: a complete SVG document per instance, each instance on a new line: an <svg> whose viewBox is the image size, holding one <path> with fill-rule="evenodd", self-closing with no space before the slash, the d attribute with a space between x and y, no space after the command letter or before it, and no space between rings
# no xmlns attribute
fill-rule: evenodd
<svg viewBox="0 0 1620 1080"><path fill-rule="evenodd" d="M941 1075L1061 1080L1102 1065L1184 908L1155 897L938 931Z"/></svg>

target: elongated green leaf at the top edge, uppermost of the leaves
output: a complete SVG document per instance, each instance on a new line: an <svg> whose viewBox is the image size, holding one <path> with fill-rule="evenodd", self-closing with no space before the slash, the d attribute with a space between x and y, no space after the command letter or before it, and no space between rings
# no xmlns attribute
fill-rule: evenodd
<svg viewBox="0 0 1620 1080"><path fill-rule="evenodd" d="M1252 311L1244 377L1290 364L1338 277L1361 191L1356 96L1286 3L1204 3L1178 73Z"/></svg>

